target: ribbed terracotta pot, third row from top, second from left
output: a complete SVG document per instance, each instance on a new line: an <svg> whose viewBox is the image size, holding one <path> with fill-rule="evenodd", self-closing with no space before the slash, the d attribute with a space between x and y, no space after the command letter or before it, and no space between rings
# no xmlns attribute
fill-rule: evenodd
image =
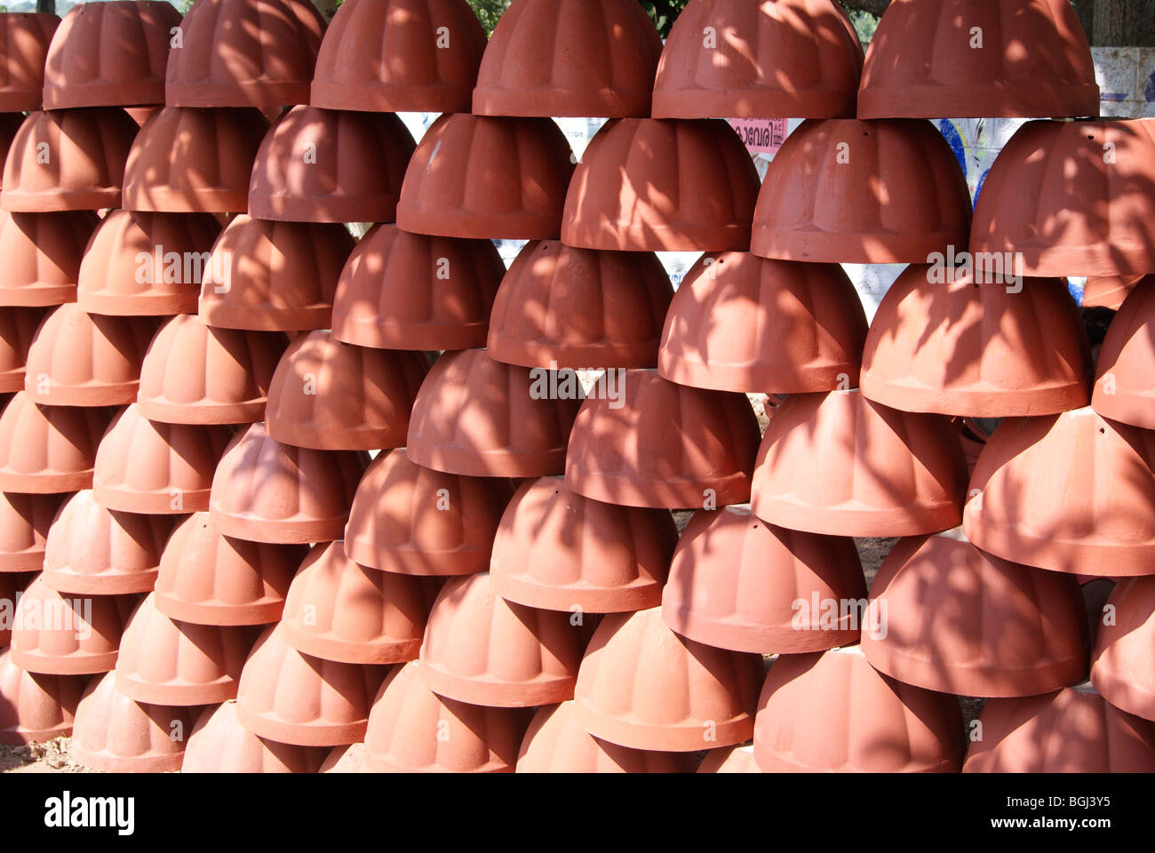
<svg viewBox="0 0 1155 853"><path fill-rule="evenodd" d="M196 313L219 232L209 214L110 210L81 261L76 302L94 314Z"/></svg>

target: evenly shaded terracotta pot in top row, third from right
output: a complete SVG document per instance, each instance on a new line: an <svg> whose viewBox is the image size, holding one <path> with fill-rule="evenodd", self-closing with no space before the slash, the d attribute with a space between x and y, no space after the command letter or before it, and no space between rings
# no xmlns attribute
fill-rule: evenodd
<svg viewBox="0 0 1155 853"><path fill-rule="evenodd" d="M516 0L474 90L478 116L649 116L662 39L633 0Z"/></svg>

